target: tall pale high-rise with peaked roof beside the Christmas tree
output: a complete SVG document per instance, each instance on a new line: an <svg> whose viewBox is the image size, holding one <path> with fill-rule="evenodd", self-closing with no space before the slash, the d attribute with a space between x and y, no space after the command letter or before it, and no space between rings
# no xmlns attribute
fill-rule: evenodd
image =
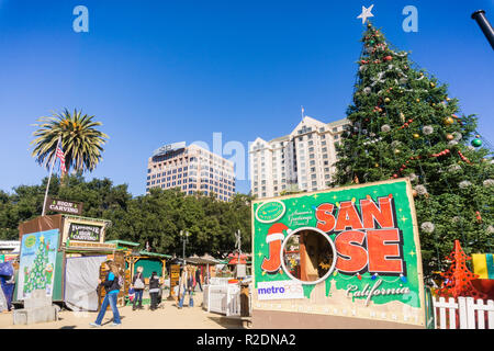
<svg viewBox="0 0 494 351"><path fill-rule="evenodd" d="M305 116L289 135L266 141L258 137L249 149L250 190L258 199L282 191L328 188L335 173L335 145L348 120L323 123Z"/></svg>

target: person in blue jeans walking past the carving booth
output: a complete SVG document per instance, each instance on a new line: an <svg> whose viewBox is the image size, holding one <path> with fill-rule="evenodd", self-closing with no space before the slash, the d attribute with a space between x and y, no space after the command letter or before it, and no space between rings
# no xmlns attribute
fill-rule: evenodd
<svg viewBox="0 0 494 351"><path fill-rule="evenodd" d="M90 322L89 325L92 327L101 327L101 321L106 313L108 305L110 305L113 312L113 322L111 326L121 326L122 321L120 319L119 308L116 307L116 297L122 287L120 285L121 273L119 272L119 268L112 261L104 262L103 270L108 270L106 278L103 282L98 280L98 283L104 287L106 295L101 304L100 313L98 314L96 321Z"/></svg>

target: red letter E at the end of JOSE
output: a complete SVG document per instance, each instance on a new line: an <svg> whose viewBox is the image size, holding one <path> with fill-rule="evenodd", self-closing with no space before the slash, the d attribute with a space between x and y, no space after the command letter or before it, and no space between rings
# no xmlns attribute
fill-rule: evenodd
<svg viewBox="0 0 494 351"><path fill-rule="evenodd" d="M398 229L367 230L369 272L403 273Z"/></svg>

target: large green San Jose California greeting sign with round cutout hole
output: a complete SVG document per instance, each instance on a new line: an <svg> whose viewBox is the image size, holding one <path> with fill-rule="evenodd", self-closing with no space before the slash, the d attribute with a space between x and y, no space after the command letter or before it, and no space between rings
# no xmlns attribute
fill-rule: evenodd
<svg viewBox="0 0 494 351"><path fill-rule="evenodd" d="M424 326L408 180L254 201L252 233L254 309Z"/></svg>

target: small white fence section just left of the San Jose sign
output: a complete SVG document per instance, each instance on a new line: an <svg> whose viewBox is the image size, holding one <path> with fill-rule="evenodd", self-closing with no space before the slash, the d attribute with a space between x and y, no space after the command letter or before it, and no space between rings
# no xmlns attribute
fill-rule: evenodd
<svg viewBox="0 0 494 351"><path fill-rule="evenodd" d="M238 284L204 285L203 308L227 317L240 316L240 287ZM249 308L251 308L249 296Z"/></svg>

